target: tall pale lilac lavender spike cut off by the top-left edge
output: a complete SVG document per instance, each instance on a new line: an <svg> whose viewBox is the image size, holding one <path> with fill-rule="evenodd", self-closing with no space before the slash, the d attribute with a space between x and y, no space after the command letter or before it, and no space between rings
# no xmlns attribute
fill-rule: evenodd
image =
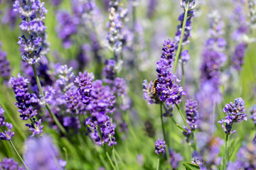
<svg viewBox="0 0 256 170"><path fill-rule="evenodd" d="M43 48L46 51L48 50L46 26L43 23L47 13L44 3L41 3L40 0L16 0L14 1L13 11L22 18L19 27L29 35L29 38L23 35L18 41L18 45L21 46L22 58L28 64L38 63L42 57L41 51Z"/></svg>

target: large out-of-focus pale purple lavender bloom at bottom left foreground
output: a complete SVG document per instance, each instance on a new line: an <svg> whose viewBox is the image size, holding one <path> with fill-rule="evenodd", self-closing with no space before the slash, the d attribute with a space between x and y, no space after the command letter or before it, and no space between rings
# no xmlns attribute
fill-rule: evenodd
<svg viewBox="0 0 256 170"><path fill-rule="evenodd" d="M59 159L59 152L48 135L26 140L24 162L29 169L64 169L66 162Z"/></svg>

